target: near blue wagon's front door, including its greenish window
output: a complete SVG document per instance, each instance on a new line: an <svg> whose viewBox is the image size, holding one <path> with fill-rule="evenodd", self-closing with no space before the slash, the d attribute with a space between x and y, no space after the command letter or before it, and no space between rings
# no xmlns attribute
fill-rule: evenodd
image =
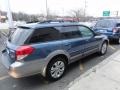
<svg viewBox="0 0 120 90"><path fill-rule="evenodd" d="M98 51L102 38L96 37L93 31L85 26L79 26L79 30L85 42L84 55L88 55L88 54Z"/></svg>

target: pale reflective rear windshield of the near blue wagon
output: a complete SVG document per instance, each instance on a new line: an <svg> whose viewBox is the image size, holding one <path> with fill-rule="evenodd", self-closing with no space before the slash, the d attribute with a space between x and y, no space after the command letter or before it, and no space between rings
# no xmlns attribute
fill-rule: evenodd
<svg viewBox="0 0 120 90"><path fill-rule="evenodd" d="M23 45L31 35L32 31L33 30L27 28L17 28L17 30L9 38L9 42L15 45Z"/></svg>

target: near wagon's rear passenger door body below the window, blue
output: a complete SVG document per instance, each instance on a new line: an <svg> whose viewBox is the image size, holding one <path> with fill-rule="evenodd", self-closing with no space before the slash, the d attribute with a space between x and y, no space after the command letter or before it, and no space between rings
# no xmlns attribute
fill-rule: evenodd
<svg viewBox="0 0 120 90"><path fill-rule="evenodd" d="M83 38L63 40L62 43L63 49L70 55L71 59L69 60L69 63L74 62L78 57L82 57L85 43Z"/></svg>

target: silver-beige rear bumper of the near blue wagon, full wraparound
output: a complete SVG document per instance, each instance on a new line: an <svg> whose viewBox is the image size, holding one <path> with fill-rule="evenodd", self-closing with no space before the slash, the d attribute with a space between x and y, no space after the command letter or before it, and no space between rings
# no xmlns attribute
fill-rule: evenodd
<svg viewBox="0 0 120 90"><path fill-rule="evenodd" d="M11 64L8 58L2 55L2 63L7 68L9 75L13 78L27 77L38 73L41 73L43 76L45 75L46 60L44 59L28 62L24 60L21 62L15 61Z"/></svg>

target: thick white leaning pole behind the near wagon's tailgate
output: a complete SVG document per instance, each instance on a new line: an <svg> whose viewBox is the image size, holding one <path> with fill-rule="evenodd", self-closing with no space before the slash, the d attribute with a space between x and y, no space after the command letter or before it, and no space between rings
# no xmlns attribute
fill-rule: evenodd
<svg viewBox="0 0 120 90"><path fill-rule="evenodd" d="M7 7L7 18L9 23L9 29L12 30L14 28L13 26L13 18L12 18L12 12L10 9L10 1L6 0L6 7Z"/></svg>

